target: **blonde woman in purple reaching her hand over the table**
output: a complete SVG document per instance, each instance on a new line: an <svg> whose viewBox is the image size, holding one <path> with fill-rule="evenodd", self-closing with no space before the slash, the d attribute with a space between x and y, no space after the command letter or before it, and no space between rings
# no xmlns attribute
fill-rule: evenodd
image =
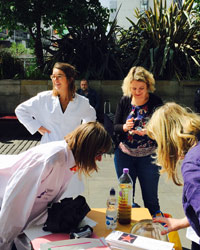
<svg viewBox="0 0 200 250"><path fill-rule="evenodd" d="M182 203L185 217L155 218L155 222L166 223L168 230L162 234L191 226L200 237L200 116L187 108L169 102L152 115L147 124L147 134L157 142L156 162L173 182L180 186L177 168L182 161ZM191 229L191 230L192 230ZM192 250L200 249L192 241Z"/></svg>

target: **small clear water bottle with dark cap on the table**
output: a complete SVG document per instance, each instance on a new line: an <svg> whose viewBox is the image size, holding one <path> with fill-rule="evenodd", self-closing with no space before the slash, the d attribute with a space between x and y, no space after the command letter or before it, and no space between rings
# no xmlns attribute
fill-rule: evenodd
<svg viewBox="0 0 200 250"><path fill-rule="evenodd" d="M107 199L106 227L114 230L117 226L117 199L115 189L111 188L110 196Z"/></svg>

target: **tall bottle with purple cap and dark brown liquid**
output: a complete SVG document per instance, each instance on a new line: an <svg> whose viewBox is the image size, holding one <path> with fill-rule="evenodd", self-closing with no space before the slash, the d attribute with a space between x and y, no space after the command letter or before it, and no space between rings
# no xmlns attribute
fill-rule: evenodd
<svg viewBox="0 0 200 250"><path fill-rule="evenodd" d="M131 222L131 208L133 200L133 181L129 175L129 169L124 168L119 178L118 194L118 222L129 224Z"/></svg>

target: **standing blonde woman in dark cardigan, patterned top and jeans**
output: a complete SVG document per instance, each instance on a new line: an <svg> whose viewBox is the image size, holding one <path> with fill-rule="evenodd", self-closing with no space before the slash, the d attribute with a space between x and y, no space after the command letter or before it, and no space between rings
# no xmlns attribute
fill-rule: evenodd
<svg viewBox="0 0 200 250"><path fill-rule="evenodd" d="M118 178L123 168L129 168L133 180L133 207L136 178L138 177L145 207L152 215L160 210L158 201L159 167L153 163L155 141L146 135L144 128L157 106L163 104L154 95L155 80L143 67L132 67L122 84L123 97L119 101L114 119L117 139L114 153Z"/></svg>

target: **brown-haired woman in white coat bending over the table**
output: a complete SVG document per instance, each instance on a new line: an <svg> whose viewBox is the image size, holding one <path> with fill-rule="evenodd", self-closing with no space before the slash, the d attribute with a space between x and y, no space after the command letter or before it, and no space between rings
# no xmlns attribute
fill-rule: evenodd
<svg viewBox="0 0 200 250"><path fill-rule="evenodd" d="M104 127L89 122L63 141L41 144L14 157L0 156L0 249L12 249L25 228L43 224L47 205L68 189L72 169L86 175L97 171L95 161L110 147Z"/></svg>

